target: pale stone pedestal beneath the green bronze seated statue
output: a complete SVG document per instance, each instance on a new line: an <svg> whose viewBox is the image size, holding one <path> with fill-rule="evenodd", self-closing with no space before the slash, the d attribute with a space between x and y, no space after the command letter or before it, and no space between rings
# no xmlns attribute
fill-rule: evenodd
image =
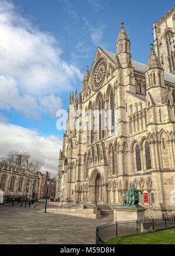
<svg viewBox="0 0 175 256"><path fill-rule="evenodd" d="M118 206L114 208L114 221L127 221L127 220L145 220L145 211L143 207L125 207Z"/></svg>

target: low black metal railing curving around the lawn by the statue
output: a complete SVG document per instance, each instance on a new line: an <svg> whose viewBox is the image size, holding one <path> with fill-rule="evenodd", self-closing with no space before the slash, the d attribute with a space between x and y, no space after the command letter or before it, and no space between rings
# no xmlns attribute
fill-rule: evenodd
<svg viewBox="0 0 175 256"><path fill-rule="evenodd" d="M175 216L163 216L162 219L145 219L144 221L117 221L96 228L96 244L106 244L114 237L141 234L142 227L150 231L163 230L175 226Z"/></svg>

